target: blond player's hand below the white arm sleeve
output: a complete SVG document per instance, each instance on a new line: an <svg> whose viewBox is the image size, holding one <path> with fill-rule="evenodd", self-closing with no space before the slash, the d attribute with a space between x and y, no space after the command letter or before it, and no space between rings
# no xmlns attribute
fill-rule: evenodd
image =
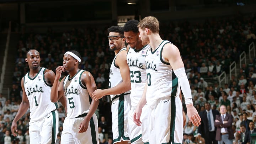
<svg viewBox="0 0 256 144"><path fill-rule="evenodd" d="M201 118L196 110L196 108L193 106L193 104L186 105L187 107L187 116L190 119L190 121L193 123L194 126L199 126L201 124Z"/></svg>

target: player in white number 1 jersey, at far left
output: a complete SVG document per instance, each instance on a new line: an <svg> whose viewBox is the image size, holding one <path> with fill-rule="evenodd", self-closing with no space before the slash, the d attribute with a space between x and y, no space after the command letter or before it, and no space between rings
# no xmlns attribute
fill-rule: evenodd
<svg viewBox="0 0 256 144"><path fill-rule="evenodd" d="M55 74L52 70L40 67L40 54L35 49L28 50L25 61L30 71L21 80L22 102L12 121L12 134L17 136L17 121L30 108L30 143L55 144L59 126L59 115L56 110L58 102L50 101ZM61 102L65 107L65 99Z"/></svg>

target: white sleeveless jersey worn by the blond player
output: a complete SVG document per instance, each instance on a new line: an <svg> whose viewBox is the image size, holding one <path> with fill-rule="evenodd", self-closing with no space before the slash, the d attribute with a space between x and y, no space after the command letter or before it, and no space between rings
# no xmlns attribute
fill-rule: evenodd
<svg viewBox="0 0 256 144"><path fill-rule="evenodd" d="M149 106L154 105L156 100L162 97L179 96L180 84L174 74L171 65L162 58L162 49L169 41L163 41L160 46L152 52L149 48L146 53L146 73L148 89L146 100Z"/></svg>

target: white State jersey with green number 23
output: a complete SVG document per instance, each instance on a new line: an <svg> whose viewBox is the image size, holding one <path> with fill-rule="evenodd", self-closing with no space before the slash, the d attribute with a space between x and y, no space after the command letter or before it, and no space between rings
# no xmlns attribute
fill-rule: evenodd
<svg viewBox="0 0 256 144"><path fill-rule="evenodd" d="M149 47L149 45L146 45L140 50L129 48L127 53L127 63L130 68L130 81L132 87L130 94L132 107L138 105L147 81L145 56Z"/></svg>

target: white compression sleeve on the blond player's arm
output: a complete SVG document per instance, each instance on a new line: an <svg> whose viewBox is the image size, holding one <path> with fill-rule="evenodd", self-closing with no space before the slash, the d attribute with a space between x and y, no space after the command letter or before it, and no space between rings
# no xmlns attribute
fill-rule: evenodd
<svg viewBox="0 0 256 144"><path fill-rule="evenodd" d="M180 82L181 90L182 90L183 95L185 97L186 105L193 103L190 84L189 84L188 79L187 79L185 68L183 67L183 68L176 69L176 70L174 70L174 73L175 73L175 75L177 76L177 78Z"/></svg>

